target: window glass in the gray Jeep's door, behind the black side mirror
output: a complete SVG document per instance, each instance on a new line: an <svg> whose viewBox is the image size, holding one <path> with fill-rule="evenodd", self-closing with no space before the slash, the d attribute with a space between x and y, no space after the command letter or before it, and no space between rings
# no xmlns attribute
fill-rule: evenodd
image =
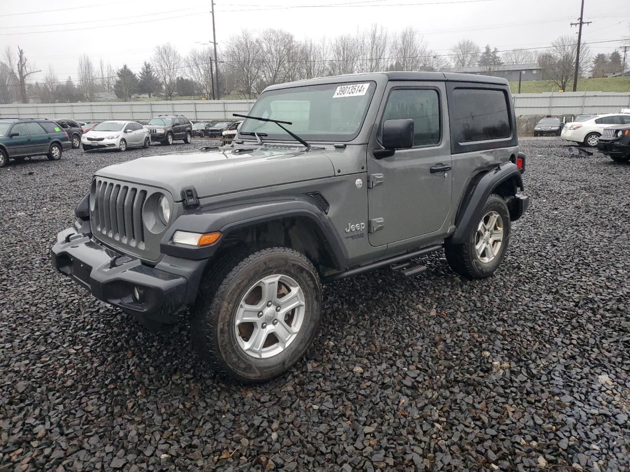
<svg viewBox="0 0 630 472"><path fill-rule="evenodd" d="M413 119L414 146L440 142L440 97L436 90L392 90L387 99L382 121L399 118Z"/></svg>

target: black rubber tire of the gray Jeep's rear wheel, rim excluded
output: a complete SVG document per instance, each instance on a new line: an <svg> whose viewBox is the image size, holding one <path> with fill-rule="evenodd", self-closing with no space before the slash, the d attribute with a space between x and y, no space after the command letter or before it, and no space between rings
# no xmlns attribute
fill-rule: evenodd
<svg viewBox="0 0 630 472"><path fill-rule="evenodd" d="M499 249L499 254L495 258L484 263L479 261L474 245L477 234L479 221L475 221L471 226L469 233L466 235L466 241L462 244L452 244L447 240L444 245L444 252L449 266L456 273L473 279L484 279L495 273L496 269L501 265L505 253L510 243L510 211L501 196L491 194L483 208L479 218L485 216L489 211L496 211L503 220L503 241Z"/></svg>

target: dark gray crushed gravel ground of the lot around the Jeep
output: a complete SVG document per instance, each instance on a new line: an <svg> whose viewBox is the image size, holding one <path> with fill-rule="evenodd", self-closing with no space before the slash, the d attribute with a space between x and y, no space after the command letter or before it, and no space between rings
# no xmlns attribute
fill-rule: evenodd
<svg viewBox="0 0 630 472"><path fill-rule="evenodd" d="M307 359L262 386L207 373L185 317L147 332L50 267L91 174L167 149L0 169L0 471L628 470L630 165L522 148L495 276L437 254L328 285Z"/></svg>

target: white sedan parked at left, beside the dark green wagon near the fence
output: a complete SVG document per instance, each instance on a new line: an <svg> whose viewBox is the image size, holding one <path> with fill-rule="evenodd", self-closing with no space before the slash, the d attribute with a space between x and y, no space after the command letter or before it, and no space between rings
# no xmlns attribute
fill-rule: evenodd
<svg viewBox="0 0 630 472"><path fill-rule="evenodd" d="M149 130L135 121L103 121L81 137L83 150L149 147Z"/></svg>

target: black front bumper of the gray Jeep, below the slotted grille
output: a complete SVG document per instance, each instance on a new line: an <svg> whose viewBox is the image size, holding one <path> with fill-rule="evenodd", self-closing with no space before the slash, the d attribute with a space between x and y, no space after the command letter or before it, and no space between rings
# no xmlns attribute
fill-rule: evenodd
<svg viewBox="0 0 630 472"><path fill-rule="evenodd" d="M127 313L172 323L197 295L205 261L165 256L155 267L109 249L91 235L67 228L50 250L52 266L87 288L92 295ZM169 271L163 269L168 267ZM139 298L134 296L134 288Z"/></svg>

